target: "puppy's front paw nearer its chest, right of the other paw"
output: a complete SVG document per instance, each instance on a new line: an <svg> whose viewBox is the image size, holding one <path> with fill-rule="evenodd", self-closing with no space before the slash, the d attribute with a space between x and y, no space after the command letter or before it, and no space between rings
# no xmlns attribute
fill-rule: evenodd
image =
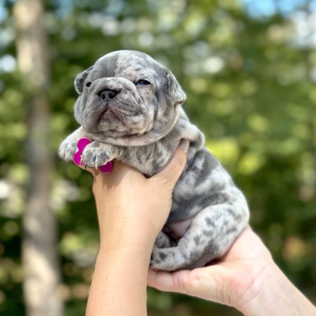
<svg viewBox="0 0 316 316"><path fill-rule="evenodd" d="M82 163L88 167L97 168L111 160L111 146L97 141L87 145L81 155Z"/></svg>

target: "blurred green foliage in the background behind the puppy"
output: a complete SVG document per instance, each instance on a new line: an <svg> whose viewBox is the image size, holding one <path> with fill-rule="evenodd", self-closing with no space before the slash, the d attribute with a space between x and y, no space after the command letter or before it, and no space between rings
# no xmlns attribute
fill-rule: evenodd
<svg viewBox="0 0 316 316"><path fill-rule="evenodd" d="M116 49L142 50L172 69L188 94L184 107L192 122L247 195L251 225L286 275L316 302L316 43L315 28L313 33L305 23L316 12L315 1L295 2L300 5L286 14L280 6L274 14L251 16L237 0L45 1L55 158L51 203L59 222L67 316L84 315L98 225L89 174L60 161L56 152L77 126L74 77ZM13 3L0 1L1 315L24 313L20 243L28 87L14 66ZM240 315L151 289L148 313Z"/></svg>

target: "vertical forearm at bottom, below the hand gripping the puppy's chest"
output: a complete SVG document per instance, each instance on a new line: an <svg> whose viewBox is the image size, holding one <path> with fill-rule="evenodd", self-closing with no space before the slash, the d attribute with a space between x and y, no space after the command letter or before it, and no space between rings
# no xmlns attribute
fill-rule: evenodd
<svg viewBox="0 0 316 316"><path fill-rule="evenodd" d="M86 316L147 315L151 249L105 245L95 262Z"/></svg>

